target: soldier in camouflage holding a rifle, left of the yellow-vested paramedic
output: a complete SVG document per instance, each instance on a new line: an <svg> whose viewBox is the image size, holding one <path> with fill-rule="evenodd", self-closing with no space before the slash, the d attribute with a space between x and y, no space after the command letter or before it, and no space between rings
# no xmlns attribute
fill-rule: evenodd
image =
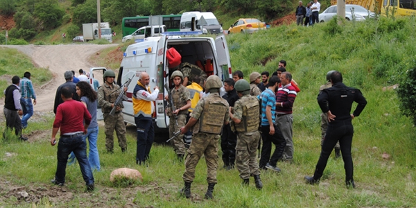
<svg viewBox="0 0 416 208"><path fill-rule="evenodd" d="M116 106L116 114L114 116L110 115L112 108L114 107L114 102L116 101L119 94L122 93L119 85L114 84L114 78L116 74L112 70L105 71L104 83L98 89L98 105L101 106L104 116L104 128L105 128L105 148L108 153L113 152L114 148L114 129L116 130L117 139L119 139L119 146L122 152L127 150L127 143L125 139L125 124L123 119L123 114L121 110L123 109L123 103L120 103ZM125 88L124 90L126 90Z"/></svg>

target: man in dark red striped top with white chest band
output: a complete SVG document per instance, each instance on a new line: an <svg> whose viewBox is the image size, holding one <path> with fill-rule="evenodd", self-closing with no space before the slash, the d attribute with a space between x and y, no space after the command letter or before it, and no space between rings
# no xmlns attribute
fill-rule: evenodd
<svg viewBox="0 0 416 208"><path fill-rule="evenodd" d="M287 162L293 159L293 115L292 107L295 103L296 90L291 85L292 74L285 71L280 76L281 87L276 94L276 124L281 130L281 134L286 140L283 157Z"/></svg>

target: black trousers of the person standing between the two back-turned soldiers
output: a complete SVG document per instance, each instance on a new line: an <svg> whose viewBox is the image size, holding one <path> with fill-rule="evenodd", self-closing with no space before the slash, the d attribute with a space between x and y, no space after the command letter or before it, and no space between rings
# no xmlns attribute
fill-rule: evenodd
<svg viewBox="0 0 416 208"><path fill-rule="evenodd" d="M221 134L221 150L223 151L223 162L225 166L234 165L236 161L237 135L232 132L229 124L224 125Z"/></svg>

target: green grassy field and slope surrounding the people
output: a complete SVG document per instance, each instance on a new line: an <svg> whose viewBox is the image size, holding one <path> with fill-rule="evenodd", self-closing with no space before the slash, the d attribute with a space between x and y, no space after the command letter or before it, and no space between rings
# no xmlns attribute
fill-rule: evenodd
<svg viewBox="0 0 416 208"><path fill-rule="evenodd" d="M233 71L242 70L246 78L252 71L271 73L284 59L302 90L293 110L294 162L277 164L282 169L279 174L262 172L261 191L255 189L253 180L250 187L242 187L236 169L219 168L214 200L204 200L206 167L201 159L191 200L180 197L177 191L183 186L184 164L175 159L170 146L163 144L153 146L149 166L135 164L136 133L132 125L127 126L128 152L121 153L115 142L111 155L105 153L101 126L98 150L102 170L94 172L96 191L85 193L78 165L67 168L62 191L49 184L56 168L56 148L49 144L53 116L46 115L29 121L25 132L41 135L33 135L31 143L0 143L0 207L416 207L415 127L411 119L401 115L396 92L383 90L416 65L415 23L412 17L345 22L343 26L333 21L227 36ZM105 54L112 53L101 53ZM320 153L316 96L329 70L341 71L344 83L361 89L368 101L361 116L353 121L356 189L345 188L343 161L333 156L319 185L311 186L303 179L313 174ZM383 153L390 157L383 159ZM110 173L121 167L136 168L144 182L111 184ZM12 194L14 187L26 188L38 200L19 198Z"/></svg>

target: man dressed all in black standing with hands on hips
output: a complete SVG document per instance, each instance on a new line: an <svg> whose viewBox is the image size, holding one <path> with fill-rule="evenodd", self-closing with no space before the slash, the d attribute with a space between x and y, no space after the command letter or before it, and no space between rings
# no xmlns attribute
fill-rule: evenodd
<svg viewBox="0 0 416 208"><path fill-rule="evenodd" d="M345 183L347 187L355 188L354 167L352 164L351 144L354 128L352 119L359 116L367 101L359 89L347 87L343 83L343 76L339 71L331 73L332 87L322 90L318 95L318 103L322 112L328 115L327 135L322 144L321 154L316 164L313 176L305 176L309 184L317 184L324 172L325 166L336 142L340 142L341 153L344 160ZM350 114L352 103L358 103L356 110Z"/></svg>

